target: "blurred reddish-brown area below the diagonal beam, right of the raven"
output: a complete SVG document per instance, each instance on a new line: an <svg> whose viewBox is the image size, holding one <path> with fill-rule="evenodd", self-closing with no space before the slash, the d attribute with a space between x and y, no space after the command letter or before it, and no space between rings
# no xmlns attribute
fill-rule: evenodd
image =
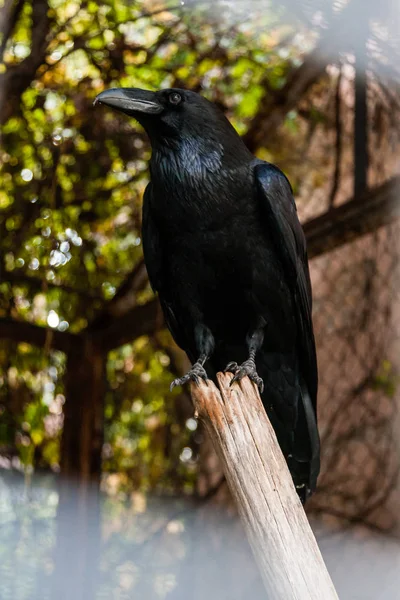
<svg viewBox="0 0 400 600"><path fill-rule="evenodd" d="M309 510L391 531L399 525L399 239L393 223L311 261L322 471Z"/></svg>

